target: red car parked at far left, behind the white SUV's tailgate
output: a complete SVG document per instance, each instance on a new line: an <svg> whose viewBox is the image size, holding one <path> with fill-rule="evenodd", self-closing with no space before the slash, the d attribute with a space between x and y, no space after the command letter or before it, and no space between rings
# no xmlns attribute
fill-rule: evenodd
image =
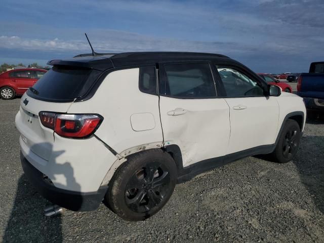
<svg viewBox="0 0 324 243"><path fill-rule="evenodd" d="M4 100L23 95L47 70L39 68L13 69L0 74L0 97Z"/></svg>

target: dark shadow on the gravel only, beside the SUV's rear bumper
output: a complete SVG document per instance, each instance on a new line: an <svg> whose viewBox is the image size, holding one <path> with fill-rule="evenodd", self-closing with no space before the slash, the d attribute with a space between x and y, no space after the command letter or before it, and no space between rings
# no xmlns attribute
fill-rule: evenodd
<svg viewBox="0 0 324 243"><path fill-rule="evenodd" d="M3 242L62 242L61 217L47 218L44 208L50 205L22 175Z"/></svg>

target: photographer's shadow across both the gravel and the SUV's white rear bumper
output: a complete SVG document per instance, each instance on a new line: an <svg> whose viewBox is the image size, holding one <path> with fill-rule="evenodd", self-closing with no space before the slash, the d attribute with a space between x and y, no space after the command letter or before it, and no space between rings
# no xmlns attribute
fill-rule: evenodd
<svg viewBox="0 0 324 243"><path fill-rule="evenodd" d="M37 144L34 146L50 147L48 143ZM31 147L31 151L33 147ZM54 170L51 170L49 178L64 176L66 185L72 185L73 188L80 188L73 176L73 168L70 163L65 161L63 164L57 163L57 157L65 151L51 152L55 163ZM56 186L58 184L56 183ZM82 202L80 202L82 203ZM3 237L4 242L62 242L62 218L61 215L56 217L46 217L43 210L46 206L52 205L50 201L39 194L23 174L17 185L12 212ZM77 206L76 206L77 207Z"/></svg>

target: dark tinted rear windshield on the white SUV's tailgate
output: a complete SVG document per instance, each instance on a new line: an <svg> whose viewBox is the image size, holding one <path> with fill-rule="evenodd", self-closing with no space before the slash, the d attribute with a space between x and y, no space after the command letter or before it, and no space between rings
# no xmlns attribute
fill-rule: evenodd
<svg viewBox="0 0 324 243"><path fill-rule="evenodd" d="M68 102L84 96L93 85L98 70L54 66L27 91L35 99Z"/></svg>

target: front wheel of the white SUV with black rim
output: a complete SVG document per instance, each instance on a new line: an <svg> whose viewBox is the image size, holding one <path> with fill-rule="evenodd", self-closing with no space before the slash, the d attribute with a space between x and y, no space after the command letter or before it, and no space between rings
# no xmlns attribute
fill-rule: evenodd
<svg viewBox="0 0 324 243"><path fill-rule="evenodd" d="M300 143L300 127L296 120L288 119L272 153L277 163L287 163L296 155Z"/></svg>

